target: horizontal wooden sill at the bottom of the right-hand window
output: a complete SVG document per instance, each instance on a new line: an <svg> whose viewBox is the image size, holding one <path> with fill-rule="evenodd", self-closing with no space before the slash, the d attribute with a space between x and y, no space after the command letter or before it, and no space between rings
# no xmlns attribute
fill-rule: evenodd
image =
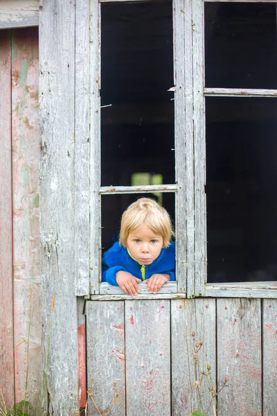
<svg viewBox="0 0 277 416"><path fill-rule="evenodd" d="M267 282L261 283L258 286L257 282L249 282L249 286L245 284L233 283L232 284L206 284L206 297L265 297L276 298L277 288L276 285L266 286ZM230 285L230 286L229 286ZM251 287L252 285L252 287Z"/></svg>

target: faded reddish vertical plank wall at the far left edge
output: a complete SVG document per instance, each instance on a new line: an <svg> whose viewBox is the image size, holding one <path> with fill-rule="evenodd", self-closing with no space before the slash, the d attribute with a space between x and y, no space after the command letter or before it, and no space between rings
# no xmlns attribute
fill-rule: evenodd
<svg viewBox="0 0 277 416"><path fill-rule="evenodd" d="M0 35L0 388L8 406L24 398L38 406L38 31L24 28Z"/></svg>

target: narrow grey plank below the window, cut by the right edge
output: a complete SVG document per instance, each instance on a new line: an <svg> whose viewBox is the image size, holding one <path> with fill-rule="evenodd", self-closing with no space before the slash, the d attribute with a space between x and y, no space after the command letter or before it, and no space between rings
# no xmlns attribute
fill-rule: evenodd
<svg viewBox="0 0 277 416"><path fill-rule="evenodd" d="M276 413L277 300L262 300L262 415Z"/></svg>

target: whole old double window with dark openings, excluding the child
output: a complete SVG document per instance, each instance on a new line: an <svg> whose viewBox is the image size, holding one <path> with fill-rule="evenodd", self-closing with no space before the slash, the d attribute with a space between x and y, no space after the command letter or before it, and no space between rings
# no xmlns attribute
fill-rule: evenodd
<svg viewBox="0 0 277 416"><path fill-rule="evenodd" d="M276 4L91 8L91 294L121 295L102 250L152 193L175 220L165 295L274 297Z"/></svg>

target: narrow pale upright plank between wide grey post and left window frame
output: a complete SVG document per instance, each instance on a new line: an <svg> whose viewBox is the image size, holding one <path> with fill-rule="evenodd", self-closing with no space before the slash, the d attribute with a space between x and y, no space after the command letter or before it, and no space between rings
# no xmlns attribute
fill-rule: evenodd
<svg viewBox="0 0 277 416"><path fill-rule="evenodd" d="M89 295L89 1L75 1L75 295Z"/></svg>

